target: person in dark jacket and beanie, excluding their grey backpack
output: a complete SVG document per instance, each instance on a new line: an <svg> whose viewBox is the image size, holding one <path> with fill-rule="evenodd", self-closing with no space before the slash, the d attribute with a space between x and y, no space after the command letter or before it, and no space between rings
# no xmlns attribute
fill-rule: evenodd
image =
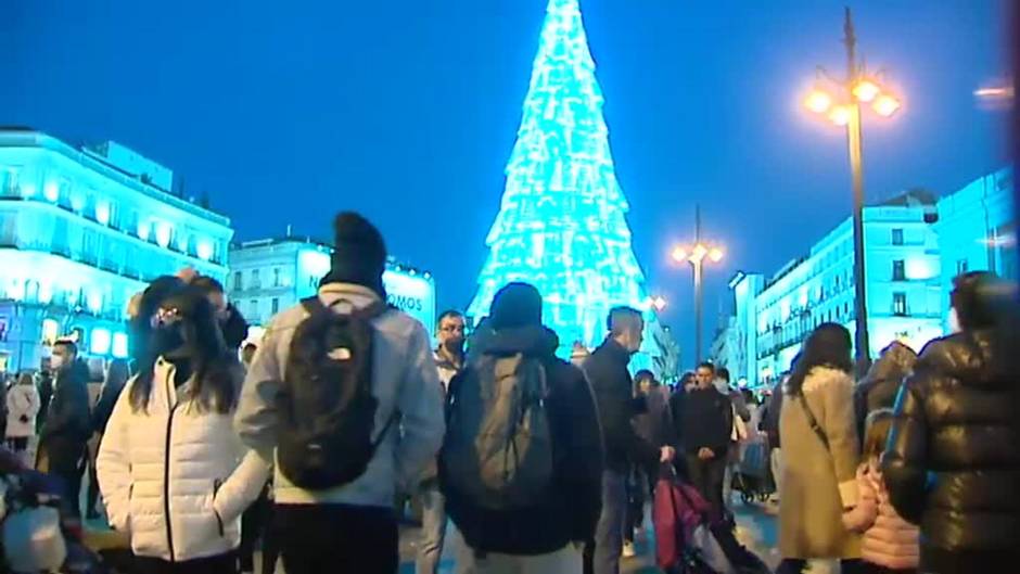
<svg viewBox="0 0 1020 574"><path fill-rule="evenodd" d="M541 324L541 296L534 286L510 283L501 289L487 326L484 337L472 340L467 368L450 382L451 400L463 385L479 384L477 369L486 356L522 354L541 359L553 484L547 496L526 508L480 508L456 490L441 459L447 513L468 546L458 563L480 573L503 572L507 564L536 574L579 572L581 552L571 543L592 536L600 508L602 446L595 400L582 372L556 357L559 341ZM456 432L452 422L448 432Z"/></svg>

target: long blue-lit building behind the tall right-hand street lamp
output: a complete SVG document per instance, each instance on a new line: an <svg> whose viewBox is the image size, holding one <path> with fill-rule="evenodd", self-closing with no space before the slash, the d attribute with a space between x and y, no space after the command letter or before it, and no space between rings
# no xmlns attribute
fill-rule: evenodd
<svg viewBox="0 0 1020 574"><path fill-rule="evenodd" d="M864 209L868 331L871 356L892 341L919 349L943 332L941 259L931 193L907 192ZM811 251L767 280L730 281L736 314L726 361L735 379L770 384L801 343L824 322L854 331L853 221L843 220Z"/></svg>

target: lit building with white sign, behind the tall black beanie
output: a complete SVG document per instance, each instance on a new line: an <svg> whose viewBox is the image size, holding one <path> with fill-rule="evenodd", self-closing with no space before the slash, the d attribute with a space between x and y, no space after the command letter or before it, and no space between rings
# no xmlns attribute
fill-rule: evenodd
<svg viewBox="0 0 1020 574"><path fill-rule="evenodd" d="M277 312L316 293L330 270L332 251L326 242L290 235L234 244L225 283L228 296L257 331ZM391 259L383 283L388 302L421 321L432 334L436 322L432 273Z"/></svg>

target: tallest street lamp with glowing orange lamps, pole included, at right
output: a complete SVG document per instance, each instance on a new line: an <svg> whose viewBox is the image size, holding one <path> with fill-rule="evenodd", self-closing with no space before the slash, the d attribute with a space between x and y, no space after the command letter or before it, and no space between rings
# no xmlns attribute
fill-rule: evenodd
<svg viewBox="0 0 1020 574"><path fill-rule="evenodd" d="M846 79L834 81L837 95L816 86L805 100L812 112L826 114L838 126L846 127L846 146L850 154L850 171L854 201L854 347L858 374L864 374L870 361L868 341L867 279L864 251L864 167L862 160L860 104L870 103L882 117L892 116L900 109L900 101L888 93L877 80L857 62L857 37L854 23L846 9L843 23L843 44L846 47Z"/></svg>

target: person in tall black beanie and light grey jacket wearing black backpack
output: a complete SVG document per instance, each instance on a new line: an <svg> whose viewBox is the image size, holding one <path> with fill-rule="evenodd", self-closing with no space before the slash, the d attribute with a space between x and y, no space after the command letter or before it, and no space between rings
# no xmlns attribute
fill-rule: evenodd
<svg viewBox="0 0 1020 574"><path fill-rule="evenodd" d="M396 487L443 441L425 328L387 307L383 238L341 213L318 294L278 314L248 369L234 428L276 460L273 531L288 574L397 572Z"/></svg>

